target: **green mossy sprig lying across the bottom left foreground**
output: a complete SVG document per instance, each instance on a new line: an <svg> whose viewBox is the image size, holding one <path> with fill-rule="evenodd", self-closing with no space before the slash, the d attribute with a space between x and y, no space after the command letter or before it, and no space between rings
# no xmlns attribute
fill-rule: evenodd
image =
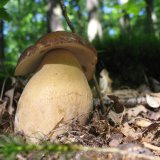
<svg viewBox="0 0 160 160"><path fill-rule="evenodd" d="M73 153L79 151L79 149L80 147L74 144L51 144L46 142L39 145L27 144L22 137L14 135L0 135L0 159L14 160L17 154L23 155L33 151L42 152L43 154L51 152L59 152L63 154Z"/></svg>

